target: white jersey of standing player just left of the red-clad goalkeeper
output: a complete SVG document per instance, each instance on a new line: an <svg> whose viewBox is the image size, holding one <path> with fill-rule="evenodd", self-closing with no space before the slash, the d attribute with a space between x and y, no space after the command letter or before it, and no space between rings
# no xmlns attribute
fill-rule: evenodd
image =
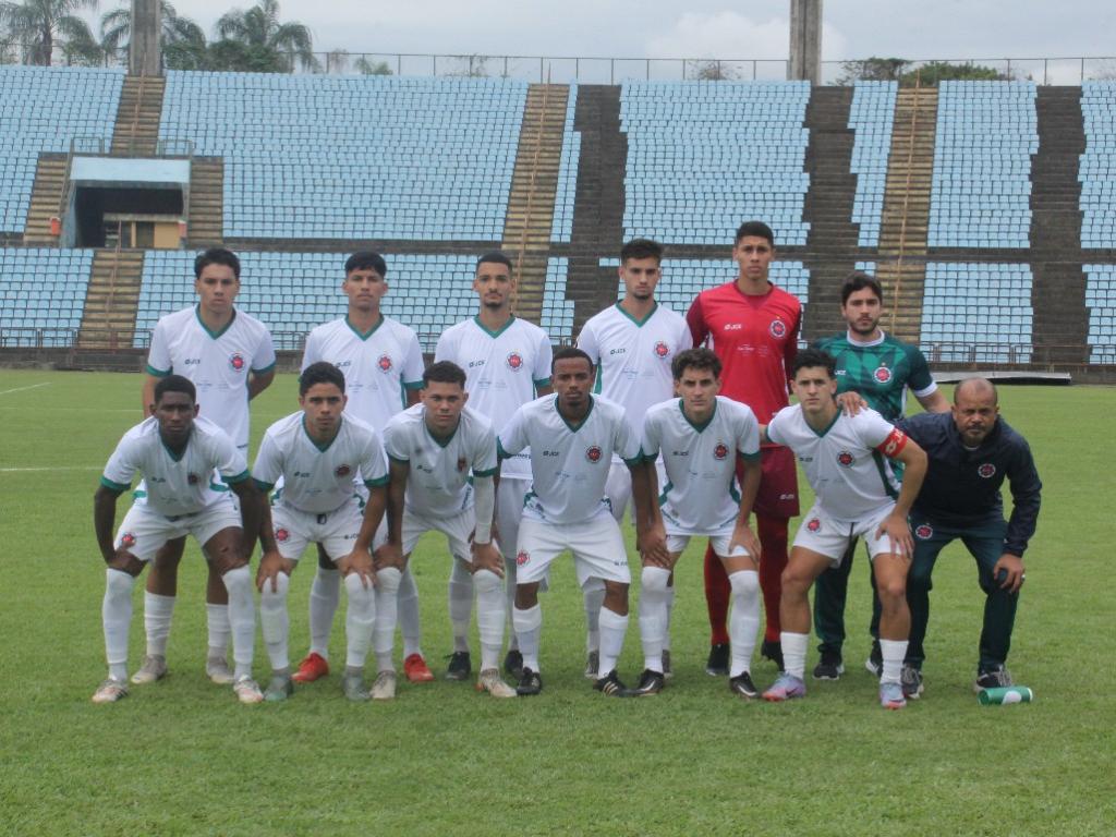
<svg viewBox="0 0 1116 837"><path fill-rule="evenodd" d="M658 304L637 320L617 302L591 317L577 338L597 367L594 392L624 407L635 427L652 405L674 394L671 363L693 346L685 319Z"/></svg>

